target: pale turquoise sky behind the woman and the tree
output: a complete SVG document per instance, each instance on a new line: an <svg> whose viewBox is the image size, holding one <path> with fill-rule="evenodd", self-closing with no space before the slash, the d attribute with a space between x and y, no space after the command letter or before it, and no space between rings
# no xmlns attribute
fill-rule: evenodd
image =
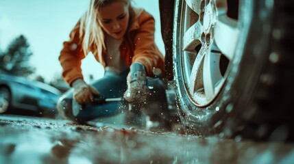
<svg viewBox="0 0 294 164"><path fill-rule="evenodd" d="M158 0L132 1L135 7L144 8L154 16L156 44L164 53ZM0 49L5 51L14 38L23 34L33 53L29 64L49 83L54 76L62 73L58 61L62 43L69 40L71 29L86 12L88 3L89 0L0 0ZM93 55L82 61L82 70L85 81L88 81L90 74L95 79L103 76L103 67Z"/></svg>

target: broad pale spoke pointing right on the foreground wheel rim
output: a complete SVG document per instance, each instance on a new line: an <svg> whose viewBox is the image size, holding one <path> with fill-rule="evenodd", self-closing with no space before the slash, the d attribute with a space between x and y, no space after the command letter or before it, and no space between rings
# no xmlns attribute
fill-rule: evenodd
<svg viewBox="0 0 294 164"><path fill-rule="evenodd" d="M214 33L215 43L219 47L219 50L231 60L234 57L234 51L238 41L239 30L237 21L225 15L219 16L215 24Z"/></svg>

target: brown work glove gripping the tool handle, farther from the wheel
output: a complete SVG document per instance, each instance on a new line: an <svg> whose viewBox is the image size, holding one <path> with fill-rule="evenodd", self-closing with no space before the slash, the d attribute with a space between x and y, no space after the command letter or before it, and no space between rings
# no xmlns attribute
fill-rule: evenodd
<svg viewBox="0 0 294 164"><path fill-rule="evenodd" d="M82 79L73 82L73 89L73 98L79 104L93 103L94 95L99 96L99 92Z"/></svg>

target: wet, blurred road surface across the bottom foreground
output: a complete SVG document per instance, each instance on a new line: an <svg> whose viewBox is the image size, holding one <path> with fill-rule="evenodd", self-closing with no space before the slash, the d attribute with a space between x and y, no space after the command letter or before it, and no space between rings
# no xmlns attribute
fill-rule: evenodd
<svg viewBox="0 0 294 164"><path fill-rule="evenodd" d="M12 115L0 115L0 127L0 163L294 163L293 143L201 139Z"/></svg>

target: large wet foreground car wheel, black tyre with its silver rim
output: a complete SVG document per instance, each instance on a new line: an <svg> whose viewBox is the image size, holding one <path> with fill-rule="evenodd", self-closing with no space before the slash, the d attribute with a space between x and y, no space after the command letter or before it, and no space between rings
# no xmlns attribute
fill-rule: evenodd
<svg viewBox="0 0 294 164"><path fill-rule="evenodd" d="M186 133L293 139L294 3L218 2L175 2L173 74Z"/></svg>

